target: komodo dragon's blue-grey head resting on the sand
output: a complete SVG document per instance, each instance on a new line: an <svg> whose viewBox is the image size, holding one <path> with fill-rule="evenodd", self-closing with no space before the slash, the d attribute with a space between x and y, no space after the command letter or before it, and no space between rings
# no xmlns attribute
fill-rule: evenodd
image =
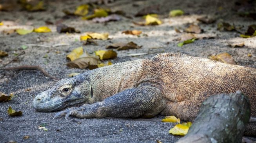
<svg viewBox="0 0 256 143"><path fill-rule="evenodd" d="M82 75L82 74L81 74ZM65 107L86 103L91 97L91 83L86 75L58 81L52 88L34 98L33 107L37 111L58 111Z"/></svg>

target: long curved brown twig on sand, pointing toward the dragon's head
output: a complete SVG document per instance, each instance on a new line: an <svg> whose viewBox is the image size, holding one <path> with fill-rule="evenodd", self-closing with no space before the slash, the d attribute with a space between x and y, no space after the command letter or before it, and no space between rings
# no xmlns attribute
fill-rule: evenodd
<svg viewBox="0 0 256 143"><path fill-rule="evenodd" d="M23 65L23 66L15 66L15 67L9 67L9 68L0 68L0 70L39 70L42 73L44 73L45 76L50 77L54 80L59 80L56 77L53 77L49 75L42 67L40 66L30 66L30 65Z"/></svg>

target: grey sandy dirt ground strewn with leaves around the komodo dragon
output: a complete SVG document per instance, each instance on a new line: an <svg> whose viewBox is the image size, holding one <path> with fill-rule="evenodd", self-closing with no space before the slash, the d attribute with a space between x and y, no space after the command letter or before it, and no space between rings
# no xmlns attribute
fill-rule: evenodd
<svg viewBox="0 0 256 143"><path fill-rule="evenodd" d="M1 2L1 1L0 1ZM218 21L225 21L241 27L240 32L245 32L248 25L255 24L251 18L240 17L234 9L235 1L231 0L116 0L111 4L103 5L112 10L122 10L128 16L133 16L140 9L160 4L160 19L162 25L138 26L132 21L140 21L142 18L129 19L122 17L121 21L94 23L91 20L81 20L80 17L63 18L62 9L75 9L87 1L68 0L45 0L47 11L27 12L15 9L11 12L0 11L0 21L15 21L13 26L0 26L0 50L8 52L7 57L0 59L0 67L23 51L22 45L46 45L65 44L57 47L29 46L25 49L25 55L19 57L7 67L20 65L38 65L43 67L50 75L59 79L68 78L69 73L82 73L88 69L71 69L65 63L68 62L66 55L74 48L83 46L84 50L93 53L95 50L104 50L111 43L133 41L142 48L135 50L117 51L118 57L112 59L112 63L131 61L135 59L149 58L161 52L180 52L198 57L227 52L241 66L256 68L256 38L240 38L239 32L220 32L217 30ZM184 16L169 17L169 11L183 9ZM211 15L217 18L212 24L199 23L196 19L203 15ZM56 25L49 25L51 33L31 33L20 36L16 33L3 34L6 29L22 27L39 27L45 25L45 20L59 21L63 19L64 24L75 27L81 34L59 34ZM175 29L185 29L189 24L200 25L205 34L214 35L213 39L200 39L194 43L178 47L177 40L182 33ZM144 35L138 37L125 35L124 30L141 30ZM78 39L83 32L109 32L109 40L97 40L98 45L83 45ZM145 34L147 36L145 36ZM244 42L242 48L231 48L229 43ZM59 51L60 53L56 53ZM128 54L149 53L131 57ZM150 54L151 53L151 54ZM251 53L251 57L247 54ZM47 54L48 57L44 58ZM107 60L105 61L107 62ZM40 71L0 71L0 91L6 94L13 93L15 97L9 102L0 103L0 142L14 140L20 142L175 142L180 137L169 134L169 129L174 127L172 123L163 123L163 116L151 119L77 119L64 118L53 119L55 113L40 113L33 109L32 102L35 95L54 85L55 81L45 77ZM31 89L27 91L27 89ZM21 110L22 116L10 117L7 114L8 107ZM48 131L39 130L38 126L46 123ZM29 136L29 139L24 139Z"/></svg>

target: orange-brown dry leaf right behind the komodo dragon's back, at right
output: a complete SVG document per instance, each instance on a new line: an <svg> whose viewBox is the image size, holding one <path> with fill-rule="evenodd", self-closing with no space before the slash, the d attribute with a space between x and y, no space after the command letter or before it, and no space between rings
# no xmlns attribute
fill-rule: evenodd
<svg viewBox="0 0 256 143"><path fill-rule="evenodd" d="M218 54L218 55L211 55L211 56L209 56L209 59L212 59L212 60L215 60L215 61L220 61L220 62L226 63L226 64L236 64L233 57L228 53L221 53L221 54Z"/></svg>

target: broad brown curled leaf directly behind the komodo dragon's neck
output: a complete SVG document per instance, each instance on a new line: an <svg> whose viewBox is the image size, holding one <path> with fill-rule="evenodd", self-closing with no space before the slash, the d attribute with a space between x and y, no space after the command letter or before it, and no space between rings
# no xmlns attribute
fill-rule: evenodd
<svg viewBox="0 0 256 143"><path fill-rule="evenodd" d="M81 57L78 59L75 59L74 61L71 61L67 63L67 66L69 68L80 68L84 69L89 66L89 64L98 64L99 59L96 57Z"/></svg>

